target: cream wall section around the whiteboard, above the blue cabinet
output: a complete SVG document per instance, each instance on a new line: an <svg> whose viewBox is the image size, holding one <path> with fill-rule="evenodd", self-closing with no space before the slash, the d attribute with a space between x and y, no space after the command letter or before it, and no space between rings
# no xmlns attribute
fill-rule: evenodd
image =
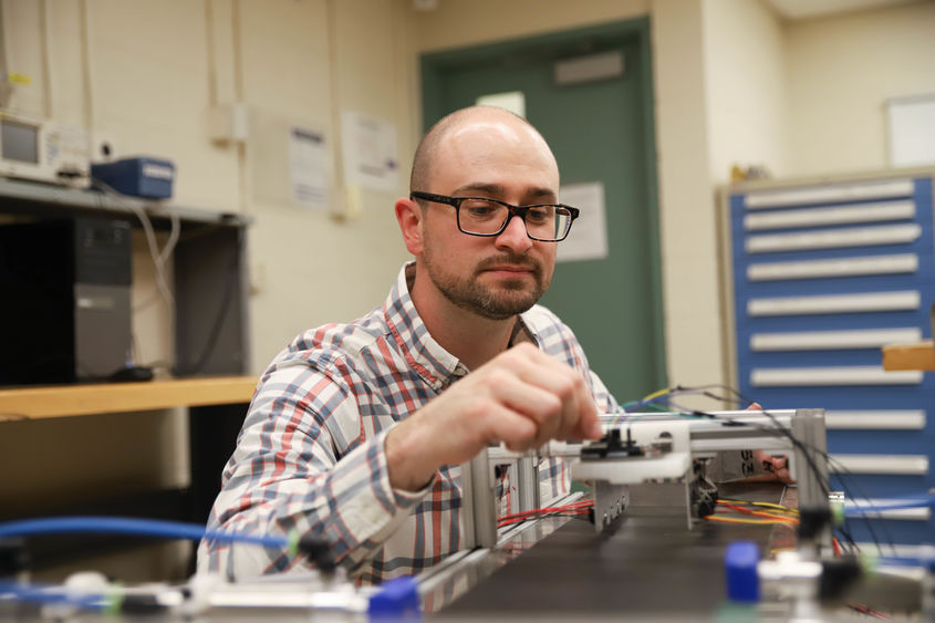
<svg viewBox="0 0 935 623"><path fill-rule="evenodd" d="M935 93L935 2L787 27L790 176L889 166L889 97Z"/></svg>

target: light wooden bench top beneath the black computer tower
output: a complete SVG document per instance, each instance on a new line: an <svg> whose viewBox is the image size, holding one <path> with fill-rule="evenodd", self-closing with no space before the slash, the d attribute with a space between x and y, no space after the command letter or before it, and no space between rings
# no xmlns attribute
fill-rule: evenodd
<svg viewBox="0 0 935 623"><path fill-rule="evenodd" d="M0 390L0 422L249 403L256 376Z"/></svg>

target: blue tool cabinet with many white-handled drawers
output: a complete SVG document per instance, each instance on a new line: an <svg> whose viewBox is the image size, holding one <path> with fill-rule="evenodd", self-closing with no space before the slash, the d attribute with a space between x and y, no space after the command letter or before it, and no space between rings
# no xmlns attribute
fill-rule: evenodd
<svg viewBox="0 0 935 623"><path fill-rule="evenodd" d="M727 193L735 383L767 408L823 407L832 487L879 505L935 487L935 373L885 372L881 353L932 336L932 187L916 170ZM929 508L849 526L935 542Z"/></svg>

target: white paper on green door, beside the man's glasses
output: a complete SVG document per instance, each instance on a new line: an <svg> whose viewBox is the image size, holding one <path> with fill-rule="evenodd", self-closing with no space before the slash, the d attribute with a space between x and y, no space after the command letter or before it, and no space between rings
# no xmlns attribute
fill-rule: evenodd
<svg viewBox="0 0 935 623"><path fill-rule="evenodd" d="M555 260L600 260L607 257L607 220L604 185L600 181L569 184L559 190L562 204L574 206L581 215L571 226L568 238L559 242Z"/></svg>

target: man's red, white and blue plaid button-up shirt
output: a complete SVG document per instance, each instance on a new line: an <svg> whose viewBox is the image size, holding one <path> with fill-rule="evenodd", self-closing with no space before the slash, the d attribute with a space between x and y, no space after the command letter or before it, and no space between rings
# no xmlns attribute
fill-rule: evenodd
<svg viewBox="0 0 935 623"><path fill-rule="evenodd" d="M407 264L382 308L307 331L273 360L224 470L209 528L323 537L361 583L417 573L458 550L459 466L443 467L424 490L409 492L389 485L384 454L395 423L468 373L423 324L409 298L414 274ZM581 372L599 412L615 408L554 314L536 305L520 318L526 339ZM539 471L543 501L568 491L563 461L543 459ZM505 485L501 497L510 494ZM199 570L230 577L307 564L250 544L206 540L198 551Z"/></svg>

